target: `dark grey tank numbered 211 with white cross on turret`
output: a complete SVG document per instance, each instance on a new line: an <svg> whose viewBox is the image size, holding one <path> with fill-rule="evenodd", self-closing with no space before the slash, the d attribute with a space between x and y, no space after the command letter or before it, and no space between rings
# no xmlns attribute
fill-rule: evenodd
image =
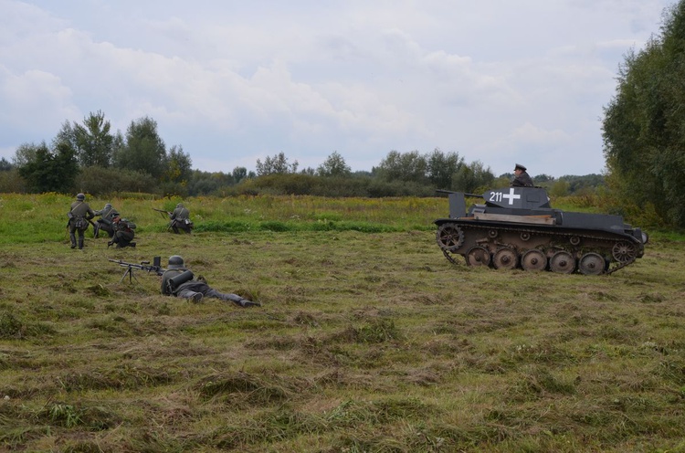
<svg viewBox="0 0 685 453"><path fill-rule="evenodd" d="M641 258L648 235L622 216L553 209L541 187L507 187L483 195L448 194L449 217L438 218L436 240L457 264L495 269L610 274ZM466 197L484 203L466 210Z"/></svg>

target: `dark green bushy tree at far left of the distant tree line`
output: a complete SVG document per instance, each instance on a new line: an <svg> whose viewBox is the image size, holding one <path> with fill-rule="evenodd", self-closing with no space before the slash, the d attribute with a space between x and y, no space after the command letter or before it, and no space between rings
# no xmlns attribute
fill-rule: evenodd
<svg viewBox="0 0 685 453"><path fill-rule="evenodd" d="M40 145L26 145L24 150L33 148L33 156L18 167L19 175L26 181L26 190L32 193L68 193L74 188L79 174L76 152L67 142L59 142L57 149L51 151L45 142ZM17 150L17 153L19 150Z"/></svg>

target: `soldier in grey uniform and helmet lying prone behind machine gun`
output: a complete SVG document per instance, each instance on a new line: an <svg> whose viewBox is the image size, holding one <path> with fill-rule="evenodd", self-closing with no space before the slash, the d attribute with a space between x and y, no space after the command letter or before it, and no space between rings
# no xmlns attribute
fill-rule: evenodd
<svg viewBox="0 0 685 453"><path fill-rule="evenodd" d="M241 298L237 294L225 294L210 288L205 279L195 279L193 272L184 267L184 258L174 255L169 257L169 266L162 274L162 294L176 296L199 302L203 297L230 300L240 307L260 307L261 304Z"/></svg>

